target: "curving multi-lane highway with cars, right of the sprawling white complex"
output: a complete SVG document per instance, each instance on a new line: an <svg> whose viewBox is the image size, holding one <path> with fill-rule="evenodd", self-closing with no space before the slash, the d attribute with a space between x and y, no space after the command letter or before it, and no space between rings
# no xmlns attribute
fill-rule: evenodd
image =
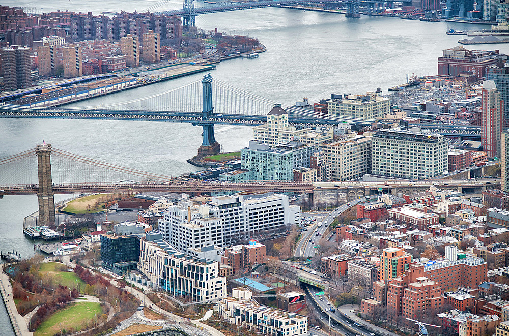
<svg viewBox="0 0 509 336"><path fill-rule="evenodd" d="M370 199L376 197L378 197L378 195L369 196ZM340 207L337 207L334 210L330 211L327 216L320 220L320 222L309 227L307 231L302 233L302 238L297 243L294 255L296 257L313 257L315 255L316 250L314 246L319 245L320 240L323 238L324 233L327 230L327 227L330 224L332 224L334 219L338 216L341 216L341 214L348 210L350 207L364 200L365 197L343 204ZM321 227L317 227L319 223L322 223Z"/></svg>

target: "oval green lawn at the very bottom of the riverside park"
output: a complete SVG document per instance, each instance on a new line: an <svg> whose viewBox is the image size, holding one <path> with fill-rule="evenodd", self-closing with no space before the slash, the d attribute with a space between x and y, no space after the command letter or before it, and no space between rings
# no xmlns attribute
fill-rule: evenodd
<svg viewBox="0 0 509 336"><path fill-rule="evenodd" d="M54 313L34 332L34 336L53 336L61 330L74 328L81 330L85 324L95 322L94 314L99 317L102 314L101 305L97 302L76 302L65 309Z"/></svg>

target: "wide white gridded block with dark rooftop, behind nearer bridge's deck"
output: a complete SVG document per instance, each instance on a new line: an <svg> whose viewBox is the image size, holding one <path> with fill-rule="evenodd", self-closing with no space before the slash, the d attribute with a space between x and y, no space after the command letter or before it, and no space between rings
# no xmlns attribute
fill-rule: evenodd
<svg viewBox="0 0 509 336"><path fill-rule="evenodd" d="M426 179L448 169L447 139L440 134L410 130L378 130L372 140L372 174Z"/></svg>

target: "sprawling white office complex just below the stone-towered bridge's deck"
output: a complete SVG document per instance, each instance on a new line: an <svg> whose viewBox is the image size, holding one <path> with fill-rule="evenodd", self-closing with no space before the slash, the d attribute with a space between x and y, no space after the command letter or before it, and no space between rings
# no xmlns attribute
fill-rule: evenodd
<svg viewBox="0 0 509 336"><path fill-rule="evenodd" d="M300 207L282 194L224 195L207 204L182 200L159 220L163 238L181 251L210 245L230 246L261 232L285 231L300 224Z"/></svg>

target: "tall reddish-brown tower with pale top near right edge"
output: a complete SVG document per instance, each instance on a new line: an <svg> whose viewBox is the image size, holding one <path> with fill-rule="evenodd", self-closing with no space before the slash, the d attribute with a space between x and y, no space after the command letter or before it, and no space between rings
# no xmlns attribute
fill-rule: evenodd
<svg viewBox="0 0 509 336"><path fill-rule="evenodd" d="M481 99L481 144L489 157L500 158L504 102L494 81L483 82Z"/></svg>

